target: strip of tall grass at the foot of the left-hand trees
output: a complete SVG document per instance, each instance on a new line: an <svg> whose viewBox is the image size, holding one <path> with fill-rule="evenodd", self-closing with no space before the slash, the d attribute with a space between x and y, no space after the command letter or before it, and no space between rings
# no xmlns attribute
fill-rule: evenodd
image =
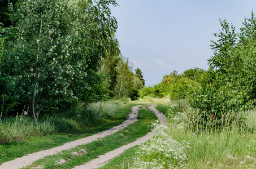
<svg viewBox="0 0 256 169"><path fill-rule="evenodd" d="M86 105L77 103L66 112L55 112L42 116L38 124L29 115L8 117L0 123L0 143L24 141L27 137L50 135L54 132L73 133L83 128L95 126L112 117L120 109L123 101L100 101Z"/></svg>

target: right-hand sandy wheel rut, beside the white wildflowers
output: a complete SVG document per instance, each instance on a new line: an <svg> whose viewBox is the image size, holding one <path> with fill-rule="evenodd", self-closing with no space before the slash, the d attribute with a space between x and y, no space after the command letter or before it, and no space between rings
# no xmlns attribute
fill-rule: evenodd
<svg viewBox="0 0 256 169"><path fill-rule="evenodd" d="M160 119L160 121L163 124L167 124L167 118L163 115L163 113L160 113L157 109L155 109L156 105L150 105L149 109L151 111L153 111L155 113L155 115L157 115L158 119ZM80 166L76 166L74 167L75 169L93 169L93 168L99 168L104 166L110 159L118 156L119 154L123 153L126 149L132 148L133 146L139 144L139 143L144 143L145 141L149 140L151 135L153 135L153 132L149 132L148 134L146 134L143 137L138 138L136 141L134 141L133 143L121 146L118 149L112 150L111 152L108 152L106 154L103 155L99 155L98 158L93 159L92 161L89 161L88 163L82 164Z"/></svg>

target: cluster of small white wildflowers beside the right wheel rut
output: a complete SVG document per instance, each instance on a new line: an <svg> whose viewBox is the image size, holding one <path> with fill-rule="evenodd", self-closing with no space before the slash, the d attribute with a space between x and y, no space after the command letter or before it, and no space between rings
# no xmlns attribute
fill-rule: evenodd
<svg viewBox="0 0 256 169"><path fill-rule="evenodd" d="M189 143L174 140L171 129L154 123L154 137L138 148L133 168L185 168Z"/></svg>

